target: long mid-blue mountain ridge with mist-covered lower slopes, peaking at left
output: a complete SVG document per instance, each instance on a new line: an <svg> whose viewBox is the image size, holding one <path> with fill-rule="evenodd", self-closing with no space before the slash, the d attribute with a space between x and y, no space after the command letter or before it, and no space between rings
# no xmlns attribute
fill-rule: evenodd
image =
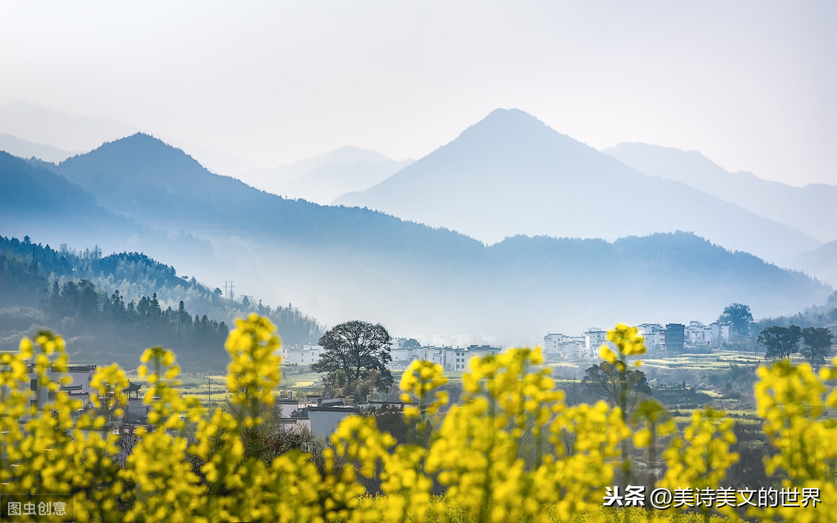
<svg viewBox="0 0 837 523"><path fill-rule="evenodd" d="M239 295L292 302L327 325L381 322L395 336L481 332L530 343L547 331L617 321L714 320L733 302L750 305L754 315L796 312L831 292L692 233L613 243L516 235L486 247L380 212L262 192L147 135L105 144L55 170L110 213L165 231L172 242L148 244L146 254L210 286L234 280ZM44 215L54 231L65 227L61 213L44 208ZM186 244L170 255L181 237L208 248Z"/></svg>

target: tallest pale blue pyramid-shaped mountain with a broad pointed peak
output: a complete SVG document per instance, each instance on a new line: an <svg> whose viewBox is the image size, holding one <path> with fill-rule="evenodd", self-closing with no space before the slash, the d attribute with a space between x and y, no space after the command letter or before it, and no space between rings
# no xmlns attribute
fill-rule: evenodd
<svg viewBox="0 0 837 523"><path fill-rule="evenodd" d="M680 182L637 172L521 110L495 110L384 182L336 200L486 243L523 233L620 238L693 231L771 261L819 243Z"/></svg>

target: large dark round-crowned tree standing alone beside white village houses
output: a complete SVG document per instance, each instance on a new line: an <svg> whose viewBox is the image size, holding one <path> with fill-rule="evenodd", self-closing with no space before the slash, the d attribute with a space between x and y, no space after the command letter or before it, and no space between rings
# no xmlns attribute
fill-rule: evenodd
<svg viewBox="0 0 837 523"><path fill-rule="evenodd" d="M326 373L326 383L344 382L344 393L354 393L354 387L367 381L377 372L374 386L388 390L393 385L393 375L387 364L393 361L389 353L392 338L381 324L352 320L334 326L320 338L325 349L320 359L311 365L314 372Z"/></svg>

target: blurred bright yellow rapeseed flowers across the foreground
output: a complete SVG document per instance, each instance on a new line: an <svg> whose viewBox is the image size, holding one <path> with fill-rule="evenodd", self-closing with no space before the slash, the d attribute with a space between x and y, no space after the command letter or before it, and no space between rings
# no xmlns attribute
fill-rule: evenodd
<svg viewBox="0 0 837 523"><path fill-rule="evenodd" d="M79 414L80 404L49 377L67 366L64 341L48 332L24 339L17 354L0 355L0 494L72 495L76 521L709 520L708 510L614 510L603 507L603 496L630 481L629 449L635 456L660 438L670 446L658 486L671 490L719 488L737 459L723 413L698 411L672 436L674 424L659 404L641 405L631 419L624 397L614 407L568 407L540 351L515 349L472 360L456 405L440 390L441 367L413 361L401 381L403 400L412 403L403 415L418 427L412 442L398 444L375 418L350 416L319 462L300 451L265 460L250 440L268 430L261 413L280 382L273 331L269 320L251 315L230 333L227 382L236 408L229 412L208 412L182 397L175 356L147 350L139 372L149 384L149 423L137 429L124 463L108 428L121 414L124 372L99 367L90 383L95 410ZM642 338L620 325L608 340L616 351L604 347L602 356L624 379L629 357L644 353ZM49 391L44 404L30 372ZM783 487L819 489L821 504L752 507L747 515L830 520L837 513L837 422L827 410L837 404L837 369L816 374L779 362L759 377L759 414L777 450L766 459L768 473L779 474ZM725 516L737 518L732 510Z"/></svg>

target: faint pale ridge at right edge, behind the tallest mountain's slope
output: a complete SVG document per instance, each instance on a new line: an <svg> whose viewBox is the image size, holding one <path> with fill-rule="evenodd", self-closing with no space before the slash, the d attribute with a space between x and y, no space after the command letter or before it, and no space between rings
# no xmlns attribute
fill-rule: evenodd
<svg viewBox="0 0 837 523"><path fill-rule="evenodd" d="M821 242L837 239L837 186L768 182L752 172L727 172L698 151L644 143L620 143L603 152L639 172L686 183Z"/></svg>

